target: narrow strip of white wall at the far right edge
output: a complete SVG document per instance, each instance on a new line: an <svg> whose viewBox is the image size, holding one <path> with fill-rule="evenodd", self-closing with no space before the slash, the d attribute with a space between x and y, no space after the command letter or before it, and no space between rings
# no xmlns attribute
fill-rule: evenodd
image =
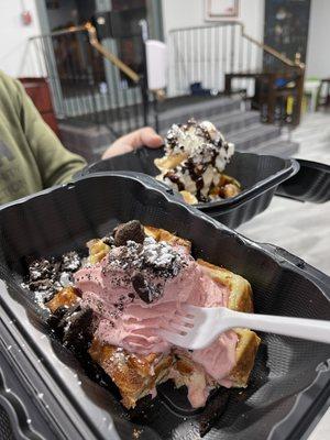
<svg viewBox="0 0 330 440"><path fill-rule="evenodd" d="M311 0L307 45L306 76L330 76L330 1Z"/></svg>

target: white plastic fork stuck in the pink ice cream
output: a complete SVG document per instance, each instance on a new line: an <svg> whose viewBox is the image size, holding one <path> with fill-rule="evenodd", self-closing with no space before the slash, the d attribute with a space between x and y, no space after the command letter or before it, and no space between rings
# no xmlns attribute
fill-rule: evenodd
<svg viewBox="0 0 330 440"><path fill-rule="evenodd" d="M330 321L244 314L226 307L184 306L158 332L174 345L199 350L235 327L330 343Z"/></svg>

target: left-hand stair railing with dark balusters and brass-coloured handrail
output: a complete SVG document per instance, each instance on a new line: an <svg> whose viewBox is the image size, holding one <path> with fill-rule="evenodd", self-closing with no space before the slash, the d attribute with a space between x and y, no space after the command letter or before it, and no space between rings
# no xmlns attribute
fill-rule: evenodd
<svg viewBox="0 0 330 440"><path fill-rule="evenodd" d="M34 36L30 51L36 76L48 78L57 118L105 124L113 136L148 123L145 81L90 22Z"/></svg>

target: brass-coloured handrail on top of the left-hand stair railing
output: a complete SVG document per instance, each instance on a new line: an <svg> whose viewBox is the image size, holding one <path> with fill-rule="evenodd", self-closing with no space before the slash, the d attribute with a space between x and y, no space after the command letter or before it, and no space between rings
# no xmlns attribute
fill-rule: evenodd
<svg viewBox="0 0 330 440"><path fill-rule="evenodd" d="M136 74L130 66L128 66L125 63L123 63L118 56L116 56L112 52L107 50L98 40L97 37L97 31L95 26L90 23L87 22L85 24L81 24L79 26L70 26L61 31L55 31L51 32L47 34L42 34L42 35L36 35L32 36L30 40L35 40L44 36L58 36L58 35L67 35L67 34L74 34L78 32L84 32L86 31L88 33L88 40L89 43L92 47L95 47L98 53L100 53L105 58L107 58L110 63L112 63L116 67L118 67L123 74L125 74L133 82L139 84L140 81L140 75Z"/></svg>

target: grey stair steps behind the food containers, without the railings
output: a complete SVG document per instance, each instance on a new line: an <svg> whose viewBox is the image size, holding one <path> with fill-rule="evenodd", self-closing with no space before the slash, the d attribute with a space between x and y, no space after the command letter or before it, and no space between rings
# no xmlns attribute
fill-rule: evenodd
<svg viewBox="0 0 330 440"><path fill-rule="evenodd" d="M211 121L242 152L289 157L298 151L297 143L282 138L279 127L262 123L257 111L246 110L240 97L187 96L167 99L158 108L160 134L164 136L173 123L185 123L190 118ZM114 141L106 125L70 121L61 122L59 130L63 143L88 162L99 160Z"/></svg>

